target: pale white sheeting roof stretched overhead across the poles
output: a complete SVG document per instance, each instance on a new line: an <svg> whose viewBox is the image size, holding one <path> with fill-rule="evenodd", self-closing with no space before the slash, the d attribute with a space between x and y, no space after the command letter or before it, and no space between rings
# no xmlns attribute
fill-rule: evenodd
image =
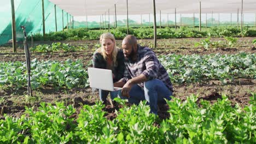
<svg viewBox="0 0 256 144"><path fill-rule="evenodd" d="M117 15L126 14L126 0L49 0L59 5L68 13L74 16L84 15L101 15L105 12L110 15L115 13L114 5L116 5ZM161 13L177 13L189 14L199 13L199 0L155 0L156 11ZM201 0L201 13L237 13L237 9L241 12L242 0ZM255 0L243 1L243 12L256 12ZM153 0L128 0L129 14L149 14L153 13Z"/></svg>

